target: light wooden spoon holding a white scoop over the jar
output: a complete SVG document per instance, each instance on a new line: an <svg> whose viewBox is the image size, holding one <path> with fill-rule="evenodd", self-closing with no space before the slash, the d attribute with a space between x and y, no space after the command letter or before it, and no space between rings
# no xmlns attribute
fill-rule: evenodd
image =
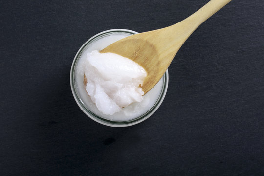
<svg viewBox="0 0 264 176"><path fill-rule="evenodd" d="M194 30L231 0L211 0L185 20L172 26L135 34L110 44L101 53L116 53L142 66L148 73L142 89L153 88Z"/></svg>

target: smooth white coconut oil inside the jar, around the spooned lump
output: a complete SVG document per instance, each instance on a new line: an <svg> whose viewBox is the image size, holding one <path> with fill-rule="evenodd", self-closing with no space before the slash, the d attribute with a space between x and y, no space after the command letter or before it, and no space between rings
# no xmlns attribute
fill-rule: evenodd
<svg viewBox="0 0 264 176"><path fill-rule="evenodd" d="M84 86L84 74L85 74L85 63L87 62L87 54L91 51L97 50L100 51L104 49L106 46L129 36L129 34L124 33L116 33L108 36L103 36L96 41L90 43L82 52L75 70L75 80L78 94L81 98L81 101L85 104L85 106L92 111L94 114L101 118L105 118L112 121L127 121L137 118L148 110L150 110L154 104L156 103L163 86L163 77L161 80L152 88L148 93L143 96L143 100L141 102L134 102L124 108L122 108L119 112L114 113L113 115L106 115L102 113L96 107L95 103L92 101L91 97L88 95L87 90Z"/></svg>

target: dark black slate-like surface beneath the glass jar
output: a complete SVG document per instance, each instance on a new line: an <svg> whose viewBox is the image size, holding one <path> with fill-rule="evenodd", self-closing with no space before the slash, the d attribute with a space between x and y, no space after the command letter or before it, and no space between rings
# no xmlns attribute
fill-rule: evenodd
<svg viewBox="0 0 264 176"><path fill-rule="evenodd" d="M264 1L233 0L169 67L152 117L112 128L70 89L73 58L108 29L145 32L208 0L1 0L1 176L263 176Z"/></svg>

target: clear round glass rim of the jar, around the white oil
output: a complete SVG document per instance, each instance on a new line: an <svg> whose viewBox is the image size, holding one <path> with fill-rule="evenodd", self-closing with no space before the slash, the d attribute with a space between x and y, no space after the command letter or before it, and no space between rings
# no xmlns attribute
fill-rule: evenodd
<svg viewBox="0 0 264 176"><path fill-rule="evenodd" d="M133 34L137 34L138 32L128 30L128 29L110 29L110 30L100 32L100 33L94 35L93 37L91 37L90 39L88 39L88 41L85 42L80 47L80 49L78 50L78 52L76 53L76 55L73 59L72 66L70 69L70 87L71 87L71 91L72 91L72 94L73 94L73 97L74 97L76 103L78 104L80 109L88 117L90 117L92 120L94 120L100 124L111 126L111 127L127 127L127 126L132 126L132 125L138 124L138 123L146 120L159 108L159 106L163 102L165 95L166 95L166 92L167 92L169 73L168 73L168 70L166 70L166 72L163 75L163 83L162 83L161 93L160 93L158 99L156 100L155 104L148 111L146 111L144 114L140 115L139 117L133 118L131 120L126 120L126 121L112 121L109 119L99 117L98 115L94 114L91 110L89 110L84 105L84 103L81 101L81 98L79 97L79 95L77 93L77 88L75 86L75 76L74 76L75 68L76 68L77 62L78 62L78 60L82 54L82 51L84 51L86 49L86 46L88 46L90 43L92 43L93 41L95 41L95 40L97 40L103 36L114 34L114 33L125 33L125 34L132 34L133 35Z"/></svg>

